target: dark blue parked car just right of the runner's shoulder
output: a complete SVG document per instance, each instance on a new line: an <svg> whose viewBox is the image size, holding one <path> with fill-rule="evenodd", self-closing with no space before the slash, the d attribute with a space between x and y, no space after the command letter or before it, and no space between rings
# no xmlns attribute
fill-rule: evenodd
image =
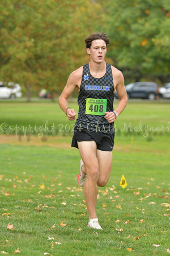
<svg viewBox="0 0 170 256"><path fill-rule="evenodd" d="M128 98L148 98L149 100L155 100L155 98L162 97L156 82L132 82L126 85L125 88Z"/></svg>

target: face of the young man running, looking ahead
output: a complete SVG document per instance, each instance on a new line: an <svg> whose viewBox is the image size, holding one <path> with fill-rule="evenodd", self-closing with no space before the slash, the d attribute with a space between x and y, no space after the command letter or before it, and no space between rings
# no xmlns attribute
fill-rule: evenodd
<svg viewBox="0 0 170 256"><path fill-rule="evenodd" d="M87 48L86 51L88 54L90 54L91 60L101 63L104 61L107 53L106 43L102 39L94 40L91 43L91 48Z"/></svg>

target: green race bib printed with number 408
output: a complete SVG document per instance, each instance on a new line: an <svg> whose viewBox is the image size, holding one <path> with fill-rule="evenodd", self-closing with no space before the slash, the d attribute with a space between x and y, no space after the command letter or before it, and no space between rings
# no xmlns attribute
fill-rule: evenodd
<svg viewBox="0 0 170 256"><path fill-rule="evenodd" d="M86 98L86 114L104 115L107 111L107 99Z"/></svg>

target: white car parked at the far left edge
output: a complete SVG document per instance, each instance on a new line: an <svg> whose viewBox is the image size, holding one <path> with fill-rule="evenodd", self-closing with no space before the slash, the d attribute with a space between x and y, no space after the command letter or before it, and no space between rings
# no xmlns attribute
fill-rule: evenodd
<svg viewBox="0 0 170 256"><path fill-rule="evenodd" d="M22 96L21 87L14 82L0 82L0 98L18 98Z"/></svg>

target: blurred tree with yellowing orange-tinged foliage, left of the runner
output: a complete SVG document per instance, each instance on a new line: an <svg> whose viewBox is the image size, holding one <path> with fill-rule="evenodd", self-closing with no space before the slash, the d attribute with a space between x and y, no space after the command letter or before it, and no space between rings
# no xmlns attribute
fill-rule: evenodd
<svg viewBox="0 0 170 256"><path fill-rule="evenodd" d="M95 30L100 6L90 0L2 0L0 9L1 80L28 91L61 92L71 71L87 61L83 39Z"/></svg>

